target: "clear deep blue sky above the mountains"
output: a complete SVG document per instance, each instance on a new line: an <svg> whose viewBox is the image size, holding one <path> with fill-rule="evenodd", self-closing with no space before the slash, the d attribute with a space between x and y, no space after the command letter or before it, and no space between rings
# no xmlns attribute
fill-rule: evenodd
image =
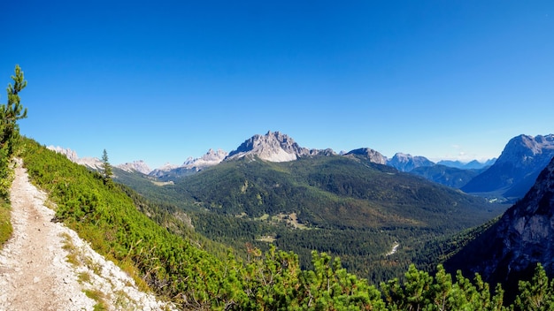
<svg viewBox="0 0 554 311"><path fill-rule="evenodd" d="M0 85L15 64L28 82L21 133L112 164L268 131L482 161L554 133L551 0L6 1L0 26Z"/></svg>

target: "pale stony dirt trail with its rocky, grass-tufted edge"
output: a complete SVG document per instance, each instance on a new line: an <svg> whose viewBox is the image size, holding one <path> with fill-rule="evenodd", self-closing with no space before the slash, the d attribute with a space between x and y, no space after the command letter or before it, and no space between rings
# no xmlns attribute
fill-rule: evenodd
<svg viewBox="0 0 554 311"><path fill-rule="evenodd" d="M92 310L96 304L110 310L167 307L138 291L132 278L74 231L52 223L54 211L44 206L46 194L29 183L20 162L15 171L13 234L0 251L0 310Z"/></svg>

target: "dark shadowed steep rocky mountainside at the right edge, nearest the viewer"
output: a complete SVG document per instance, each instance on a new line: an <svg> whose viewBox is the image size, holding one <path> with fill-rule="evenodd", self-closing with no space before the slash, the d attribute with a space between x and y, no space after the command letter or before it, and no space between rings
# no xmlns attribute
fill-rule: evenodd
<svg viewBox="0 0 554 311"><path fill-rule="evenodd" d="M528 137L527 137L528 138ZM539 138L544 140L544 138ZM527 140L528 141L528 140ZM533 274L537 262L554 276L554 159L525 197L500 220L447 262L466 275L478 272L491 284L508 288Z"/></svg>

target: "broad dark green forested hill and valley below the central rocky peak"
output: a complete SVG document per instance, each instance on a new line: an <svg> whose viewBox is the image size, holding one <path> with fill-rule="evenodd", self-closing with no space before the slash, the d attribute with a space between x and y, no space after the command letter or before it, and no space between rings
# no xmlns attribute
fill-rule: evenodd
<svg viewBox="0 0 554 311"><path fill-rule="evenodd" d="M190 216L197 232L244 257L249 243L271 240L312 269L312 250L340 256L344 267L379 284L411 263L435 269L426 246L483 224L505 206L468 196L366 158L314 156L289 163L241 159L157 186L121 172L116 180ZM309 230L300 230L295 224ZM272 239L266 239L271 237ZM395 254L391 248L399 244Z"/></svg>

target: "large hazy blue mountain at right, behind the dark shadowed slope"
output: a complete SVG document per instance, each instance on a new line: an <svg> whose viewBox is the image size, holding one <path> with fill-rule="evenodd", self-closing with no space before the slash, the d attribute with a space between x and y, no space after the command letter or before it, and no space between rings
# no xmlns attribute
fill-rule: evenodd
<svg viewBox="0 0 554 311"><path fill-rule="evenodd" d="M512 138L487 171L473 178L462 190L466 193L499 193L519 199L554 157L554 135L519 135Z"/></svg>

